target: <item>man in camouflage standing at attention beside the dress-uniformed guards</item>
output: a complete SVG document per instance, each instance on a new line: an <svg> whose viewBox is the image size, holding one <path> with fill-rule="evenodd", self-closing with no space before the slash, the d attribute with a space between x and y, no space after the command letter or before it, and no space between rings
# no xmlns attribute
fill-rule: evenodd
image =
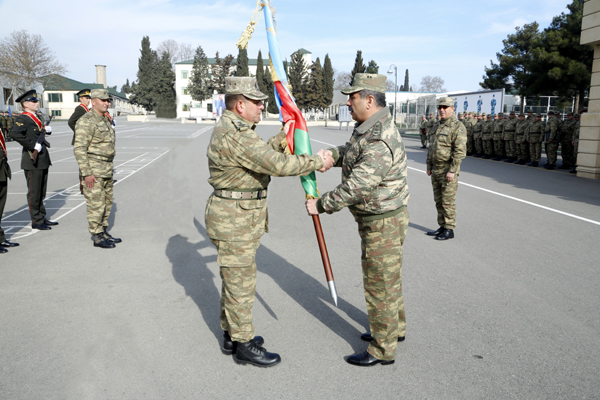
<svg viewBox="0 0 600 400"><path fill-rule="evenodd" d="M115 131L108 114L110 96L106 89L91 91L92 111L75 125L73 153L83 177L88 229L94 247L112 249L121 239L108 233L108 217L113 205L113 159Z"/></svg>

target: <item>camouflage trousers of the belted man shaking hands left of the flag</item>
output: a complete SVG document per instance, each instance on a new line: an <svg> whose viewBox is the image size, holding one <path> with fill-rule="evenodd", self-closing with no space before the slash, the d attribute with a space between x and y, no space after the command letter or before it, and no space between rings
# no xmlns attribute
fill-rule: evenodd
<svg viewBox="0 0 600 400"><path fill-rule="evenodd" d="M256 250L260 240L225 242L211 239L217 247L221 275L221 329L236 342L254 337L252 306L256 293Z"/></svg>

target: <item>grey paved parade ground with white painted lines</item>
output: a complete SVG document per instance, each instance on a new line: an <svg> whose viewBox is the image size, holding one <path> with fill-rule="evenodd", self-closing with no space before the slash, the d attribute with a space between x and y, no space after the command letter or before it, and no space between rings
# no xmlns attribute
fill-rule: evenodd
<svg viewBox="0 0 600 400"><path fill-rule="evenodd" d="M273 178L254 324L282 362L260 369L219 347L221 281L204 229L214 122L117 118L116 249L92 246L72 132L52 126L51 231L31 230L21 147L8 143L2 227L21 246L0 255L2 400L599 396L599 180L467 157L456 237L438 242L424 235L437 229L426 150L405 137L407 336L394 365L359 368L344 361L366 348L368 329L356 223L348 210L321 215L336 308L300 181ZM315 152L351 133L309 130ZM340 170L317 178L323 193Z"/></svg>

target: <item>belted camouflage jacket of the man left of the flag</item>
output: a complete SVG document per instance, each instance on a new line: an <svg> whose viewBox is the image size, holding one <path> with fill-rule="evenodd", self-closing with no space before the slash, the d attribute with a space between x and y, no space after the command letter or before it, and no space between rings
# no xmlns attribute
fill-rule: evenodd
<svg viewBox="0 0 600 400"><path fill-rule="evenodd" d="M253 192L266 189L272 176L308 175L321 169L319 156L285 155L280 132L265 143L255 125L225 110L213 130L206 155L215 189ZM206 233L214 240L241 242L259 239L268 232L267 199L237 200L213 193L205 212Z"/></svg>

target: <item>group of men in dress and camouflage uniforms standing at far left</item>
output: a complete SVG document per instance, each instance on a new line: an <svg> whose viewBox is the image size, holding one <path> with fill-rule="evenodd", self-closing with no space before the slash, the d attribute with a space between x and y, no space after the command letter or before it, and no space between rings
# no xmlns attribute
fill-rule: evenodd
<svg viewBox="0 0 600 400"><path fill-rule="evenodd" d="M114 123L107 112L111 99L106 89L84 89L77 94L82 104L69 120L69 126L74 132L72 144L79 164L80 190L86 198L89 231L95 247L114 248L121 239L111 236L107 231L112 208L112 161L115 156ZM52 127L39 110L39 98L35 90L23 93L16 101L21 104L23 112L10 117L3 113L0 119L0 225L8 180L12 177L6 141L14 140L23 148L20 166L27 183L26 200L31 228L49 231L58 225L58 222L48 219L44 205L48 171L52 166L50 143L46 135L52 134ZM90 102L92 107L88 108ZM0 226L0 254L17 246L18 243L6 239Z"/></svg>

